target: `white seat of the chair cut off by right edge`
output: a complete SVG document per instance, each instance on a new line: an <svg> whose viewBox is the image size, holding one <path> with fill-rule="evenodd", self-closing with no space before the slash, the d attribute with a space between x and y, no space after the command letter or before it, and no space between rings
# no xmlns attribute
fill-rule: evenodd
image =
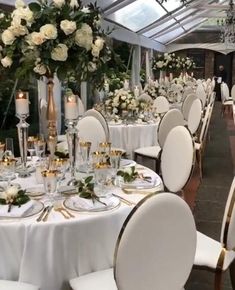
<svg viewBox="0 0 235 290"><path fill-rule="evenodd" d="M221 250L222 245L220 242L211 239L210 237L200 232L197 232L197 249L194 265L216 269ZM229 267L234 258L234 251L226 251L223 264L224 271Z"/></svg>

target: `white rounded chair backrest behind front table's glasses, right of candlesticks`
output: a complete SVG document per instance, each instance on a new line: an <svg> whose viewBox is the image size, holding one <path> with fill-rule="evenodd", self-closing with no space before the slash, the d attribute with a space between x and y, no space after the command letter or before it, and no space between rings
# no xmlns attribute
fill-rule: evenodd
<svg viewBox="0 0 235 290"><path fill-rule="evenodd" d="M97 151L99 143L107 142L105 130L93 116L85 116L77 124L80 141L91 142L91 151Z"/></svg>

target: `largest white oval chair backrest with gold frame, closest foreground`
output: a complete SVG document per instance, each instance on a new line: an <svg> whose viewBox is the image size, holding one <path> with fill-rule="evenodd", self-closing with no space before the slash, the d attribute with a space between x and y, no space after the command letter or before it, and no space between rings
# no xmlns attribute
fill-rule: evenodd
<svg viewBox="0 0 235 290"><path fill-rule="evenodd" d="M195 223L185 201L172 193L148 196L132 210L119 234L117 289L183 289L195 250Z"/></svg>

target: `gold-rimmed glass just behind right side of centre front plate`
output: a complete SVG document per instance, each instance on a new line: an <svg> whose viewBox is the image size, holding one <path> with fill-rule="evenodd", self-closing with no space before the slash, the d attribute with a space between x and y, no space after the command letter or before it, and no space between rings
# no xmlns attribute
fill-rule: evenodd
<svg viewBox="0 0 235 290"><path fill-rule="evenodd" d="M113 176L111 166L104 163L97 163L95 165L95 193L97 196L108 196L110 187L112 186Z"/></svg>

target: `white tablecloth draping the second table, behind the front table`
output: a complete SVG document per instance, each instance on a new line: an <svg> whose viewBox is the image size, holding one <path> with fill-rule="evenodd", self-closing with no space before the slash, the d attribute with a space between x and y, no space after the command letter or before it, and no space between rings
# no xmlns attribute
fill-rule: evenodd
<svg viewBox="0 0 235 290"><path fill-rule="evenodd" d="M110 141L112 147L125 149L127 156L133 158L137 148L157 145L156 123L142 124L110 124Z"/></svg>

